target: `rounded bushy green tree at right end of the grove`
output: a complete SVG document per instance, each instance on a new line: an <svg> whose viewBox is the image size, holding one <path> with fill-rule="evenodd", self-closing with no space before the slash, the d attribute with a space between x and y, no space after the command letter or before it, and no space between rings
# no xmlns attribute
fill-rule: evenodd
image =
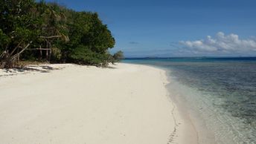
<svg viewBox="0 0 256 144"><path fill-rule="evenodd" d="M69 11L68 29L70 42L65 48L65 56L71 62L86 65L106 65L107 50L113 48L115 39L97 13Z"/></svg>

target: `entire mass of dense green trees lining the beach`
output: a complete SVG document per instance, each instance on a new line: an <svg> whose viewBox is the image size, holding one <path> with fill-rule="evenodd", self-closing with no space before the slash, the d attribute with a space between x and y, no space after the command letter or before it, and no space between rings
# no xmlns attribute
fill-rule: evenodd
<svg viewBox="0 0 256 144"><path fill-rule="evenodd" d="M97 13L45 1L0 1L1 68L16 67L20 59L107 65L121 58L109 54L114 45Z"/></svg>

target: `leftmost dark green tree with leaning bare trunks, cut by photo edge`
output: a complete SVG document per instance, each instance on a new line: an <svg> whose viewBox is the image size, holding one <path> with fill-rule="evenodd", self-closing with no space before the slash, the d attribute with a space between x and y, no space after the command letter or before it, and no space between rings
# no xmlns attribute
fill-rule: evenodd
<svg viewBox="0 0 256 144"><path fill-rule="evenodd" d="M1 1L0 68L13 68L38 34L32 16L34 4L32 0Z"/></svg>

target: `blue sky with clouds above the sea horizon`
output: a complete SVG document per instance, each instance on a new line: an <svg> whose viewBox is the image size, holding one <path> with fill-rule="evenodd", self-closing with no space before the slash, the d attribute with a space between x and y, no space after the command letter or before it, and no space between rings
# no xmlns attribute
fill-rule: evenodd
<svg viewBox="0 0 256 144"><path fill-rule="evenodd" d="M54 1L97 12L126 57L256 56L255 0Z"/></svg>

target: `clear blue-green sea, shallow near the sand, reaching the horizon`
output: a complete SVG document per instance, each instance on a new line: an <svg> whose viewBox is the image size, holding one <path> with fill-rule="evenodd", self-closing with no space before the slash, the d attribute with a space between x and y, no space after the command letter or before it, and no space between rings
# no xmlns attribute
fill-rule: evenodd
<svg viewBox="0 0 256 144"><path fill-rule="evenodd" d="M185 105L199 143L210 142L202 129L211 132L214 143L256 143L256 57L132 58L124 62L167 71L170 97Z"/></svg>

